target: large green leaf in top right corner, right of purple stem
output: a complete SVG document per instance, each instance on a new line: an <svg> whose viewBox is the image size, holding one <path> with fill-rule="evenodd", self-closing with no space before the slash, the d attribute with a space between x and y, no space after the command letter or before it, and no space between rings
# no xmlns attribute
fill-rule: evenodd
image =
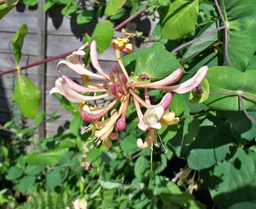
<svg viewBox="0 0 256 209"><path fill-rule="evenodd" d="M221 0L228 26L228 54L232 66L244 71L256 51L255 0Z"/></svg>

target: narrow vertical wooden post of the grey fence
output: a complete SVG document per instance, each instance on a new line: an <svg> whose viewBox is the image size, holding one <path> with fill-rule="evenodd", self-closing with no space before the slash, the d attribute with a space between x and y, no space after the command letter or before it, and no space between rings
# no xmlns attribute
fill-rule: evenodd
<svg viewBox="0 0 256 209"><path fill-rule="evenodd" d="M46 38L47 38L47 18L46 12L43 10L45 0L38 1L38 53L37 59L46 58ZM40 110L45 111L46 107L46 97L45 97L45 83L46 83L46 64L38 65L38 88L41 92L41 103ZM38 137L45 137L45 124L41 124L38 127Z"/></svg>

